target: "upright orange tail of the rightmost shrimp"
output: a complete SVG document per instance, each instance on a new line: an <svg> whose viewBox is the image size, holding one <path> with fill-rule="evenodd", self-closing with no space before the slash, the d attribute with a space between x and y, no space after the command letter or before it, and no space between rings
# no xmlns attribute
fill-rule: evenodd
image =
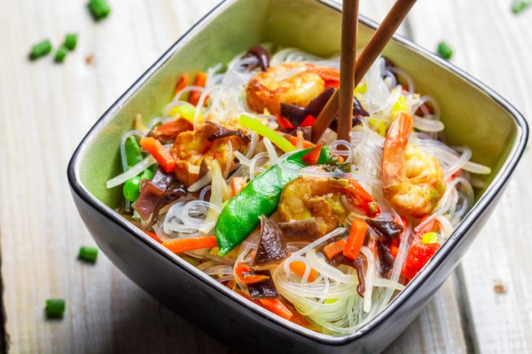
<svg viewBox="0 0 532 354"><path fill-rule="evenodd" d="M384 189L400 185L406 179L404 150L412 131L412 118L399 112L387 132L382 149L382 186Z"/></svg>

